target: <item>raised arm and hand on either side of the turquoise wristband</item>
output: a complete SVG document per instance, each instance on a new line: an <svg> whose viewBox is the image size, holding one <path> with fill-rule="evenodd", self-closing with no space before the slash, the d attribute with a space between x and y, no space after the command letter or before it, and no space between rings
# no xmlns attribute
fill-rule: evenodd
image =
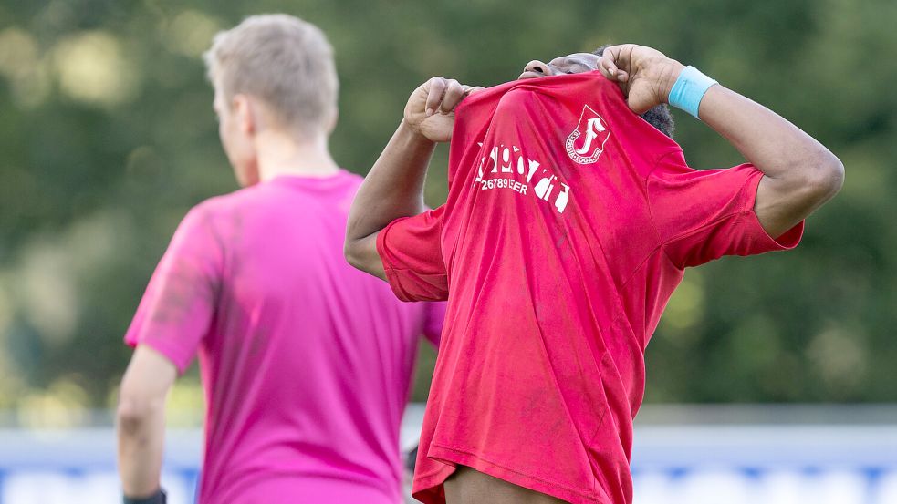
<svg viewBox="0 0 897 504"><path fill-rule="evenodd" d="M608 47L599 67L620 84L636 113L667 103L684 68L659 51L632 44ZM754 211L770 236L791 229L840 190L840 160L772 110L714 85L701 100L698 115L763 172Z"/></svg>

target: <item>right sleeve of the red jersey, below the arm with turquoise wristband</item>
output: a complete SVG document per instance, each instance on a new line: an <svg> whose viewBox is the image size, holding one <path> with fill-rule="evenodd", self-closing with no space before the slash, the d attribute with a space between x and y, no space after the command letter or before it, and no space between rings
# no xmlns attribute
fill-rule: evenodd
<svg viewBox="0 0 897 504"><path fill-rule="evenodd" d="M681 150L663 156L648 176L646 191L662 247L676 266L697 266L724 255L792 249L804 223L777 239L754 212L763 172L751 164L726 170L694 170Z"/></svg>

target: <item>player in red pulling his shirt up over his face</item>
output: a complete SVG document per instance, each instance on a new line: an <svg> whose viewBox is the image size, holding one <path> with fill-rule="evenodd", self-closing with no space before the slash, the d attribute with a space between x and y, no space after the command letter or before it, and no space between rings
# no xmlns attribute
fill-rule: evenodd
<svg viewBox="0 0 897 504"><path fill-rule="evenodd" d="M349 215L350 262L404 300L448 299L414 496L629 504L644 349L683 270L796 246L843 167L645 46L533 61L470 91L442 77L414 91ZM690 168L640 117L667 103L747 162ZM434 142L450 139L448 200L426 210Z"/></svg>

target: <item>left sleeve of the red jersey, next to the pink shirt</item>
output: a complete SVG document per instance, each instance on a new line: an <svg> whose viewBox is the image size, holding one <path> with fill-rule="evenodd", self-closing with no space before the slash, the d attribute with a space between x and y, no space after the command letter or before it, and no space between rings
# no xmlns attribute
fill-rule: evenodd
<svg viewBox="0 0 897 504"><path fill-rule="evenodd" d="M440 244L444 207L391 221L377 235L377 252L392 292L402 301L448 298Z"/></svg>

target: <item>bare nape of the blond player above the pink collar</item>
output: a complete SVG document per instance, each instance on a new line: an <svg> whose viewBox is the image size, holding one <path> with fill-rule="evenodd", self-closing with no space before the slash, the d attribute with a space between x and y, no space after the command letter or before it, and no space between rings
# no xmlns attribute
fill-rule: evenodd
<svg viewBox="0 0 897 504"><path fill-rule="evenodd" d="M256 137L259 180L267 181L281 175L301 177L329 177L339 166L330 157L327 136L297 139L270 131Z"/></svg>

